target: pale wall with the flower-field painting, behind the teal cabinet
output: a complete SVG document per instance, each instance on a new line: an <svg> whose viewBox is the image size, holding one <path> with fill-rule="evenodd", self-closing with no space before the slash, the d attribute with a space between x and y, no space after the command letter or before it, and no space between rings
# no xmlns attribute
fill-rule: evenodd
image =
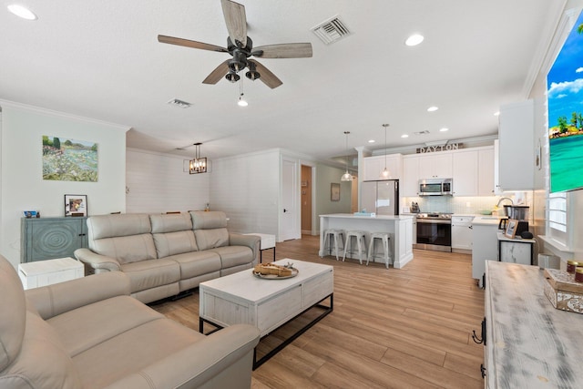
<svg viewBox="0 0 583 389"><path fill-rule="evenodd" d="M15 266L20 262L20 220L23 210L41 216L64 216L66 194L87 195L89 215L126 210L126 131L97 120L27 107L0 100L0 253ZM43 180L42 136L97 142L98 181Z"/></svg>

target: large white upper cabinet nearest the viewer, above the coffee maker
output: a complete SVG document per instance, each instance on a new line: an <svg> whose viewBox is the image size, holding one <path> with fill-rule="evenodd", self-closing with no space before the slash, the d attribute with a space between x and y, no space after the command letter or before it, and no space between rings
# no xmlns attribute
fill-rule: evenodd
<svg viewBox="0 0 583 389"><path fill-rule="evenodd" d="M500 189L534 189L535 107L533 100L500 107L498 120L498 185Z"/></svg>

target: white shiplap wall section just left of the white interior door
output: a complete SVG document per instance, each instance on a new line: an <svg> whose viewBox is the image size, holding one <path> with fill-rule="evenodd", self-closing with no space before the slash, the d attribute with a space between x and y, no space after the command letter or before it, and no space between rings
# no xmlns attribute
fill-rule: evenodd
<svg viewBox="0 0 583 389"><path fill-rule="evenodd" d="M280 152L213 160L210 210L227 213L229 230L277 235Z"/></svg>

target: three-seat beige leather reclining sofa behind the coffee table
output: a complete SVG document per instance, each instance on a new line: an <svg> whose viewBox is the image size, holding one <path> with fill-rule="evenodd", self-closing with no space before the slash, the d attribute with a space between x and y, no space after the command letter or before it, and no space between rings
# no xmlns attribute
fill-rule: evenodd
<svg viewBox="0 0 583 389"><path fill-rule="evenodd" d="M154 302L258 263L261 238L230 233L220 211L118 214L87 218L89 249L75 256L88 272L123 271L131 295Z"/></svg>

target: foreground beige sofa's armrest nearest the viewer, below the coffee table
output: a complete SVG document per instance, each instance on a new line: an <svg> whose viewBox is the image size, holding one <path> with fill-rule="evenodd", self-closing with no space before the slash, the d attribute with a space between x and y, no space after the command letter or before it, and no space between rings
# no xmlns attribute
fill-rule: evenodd
<svg viewBox="0 0 583 389"><path fill-rule="evenodd" d="M235 324L120 379L107 389L249 388L259 330Z"/></svg>

